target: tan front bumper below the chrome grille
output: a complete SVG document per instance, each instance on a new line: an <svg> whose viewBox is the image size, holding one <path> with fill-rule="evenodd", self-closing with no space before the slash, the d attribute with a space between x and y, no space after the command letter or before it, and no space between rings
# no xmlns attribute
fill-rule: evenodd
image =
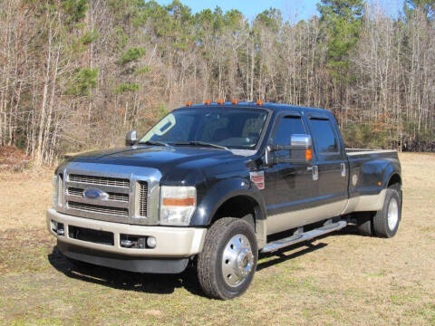
<svg viewBox="0 0 435 326"><path fill-rule="evenodd" d="M57 233L53 232L52 221L63 224L64 235L58 235ZM97 231L110 232L113 234L113 245L103 245L90 241L74 239L69 236L68 228L70 225ZM92 253L101 253L105 257L110 257L114 254L118 258L125 257L126 260L131 260L133 258L135 260L142 258L145 260L177 260L180 258L189 258L192 255L198 254L202 250L207 232L206 228L197 227L127 225L121 223L105 222L77 216L68 216L56 212L53 208L50 208L47 211L47 228L48 231L57 238L58 243L61 244L59 245L59 249L63 251L63 254L79 260L84 259L80 259L80 257L77 256L73 257L71 254L68 255L70 250L63 250L63 248L87 248L89 249L88 255L94 256L95 254ZM157 245L152 249L122 247L120 244L121 235L153 236L156 239ZM82 249L81 253L84 254ZM74 252L77 252L77 250L74 250ZM127 256L130 258L127 258ZM89 260L84 261L89 262ZM94 262L89 263L98 264ZM152 273L159 273L159 271Z"/></svg>

